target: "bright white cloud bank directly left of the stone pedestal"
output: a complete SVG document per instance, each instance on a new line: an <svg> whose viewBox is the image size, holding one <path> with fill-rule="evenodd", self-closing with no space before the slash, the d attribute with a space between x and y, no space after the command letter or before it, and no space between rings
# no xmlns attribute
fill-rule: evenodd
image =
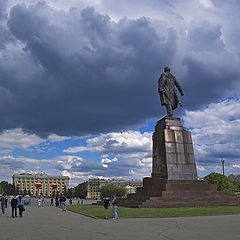
<svg viewBox="0 0 240 240"><path fill-rule="evenodd" d="M139 179L149 176L151 171L152 133L138 131L100 134L87 139L87 146L65 149L65 153L89 151L101 154L99 165L94 166L100 172L115 178ZM111 157L110 157L111 156ZM69 169L71 172L71 170ZM93 170L94 171L94 170Z"/></svg>

